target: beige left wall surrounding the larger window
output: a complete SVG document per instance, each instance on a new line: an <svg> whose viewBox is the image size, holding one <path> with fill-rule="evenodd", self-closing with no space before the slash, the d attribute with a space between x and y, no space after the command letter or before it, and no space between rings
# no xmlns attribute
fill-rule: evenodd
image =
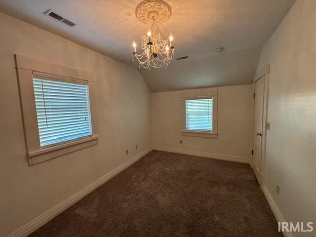
<svg viewBox="0 0 316 237"><path fill-rule="evenodd" d="M28 166L15 53L94 74L98 145ZM150 92L137 70L3 13L0 82L1 237L151 147Z"/></svg>

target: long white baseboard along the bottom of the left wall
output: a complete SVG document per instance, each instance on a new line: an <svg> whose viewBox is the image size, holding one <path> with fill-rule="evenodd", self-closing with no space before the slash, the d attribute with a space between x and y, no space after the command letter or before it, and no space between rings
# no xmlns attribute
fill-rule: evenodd
<svg viewBox="0 0 316 237"><path fill-rule="evenodd" d="M91 193L93 190L107 182L109 179L117 175L119 172L123 171L126 169L128 166L136 162L138 159L142 158L149 152L151 152L152 149L145 150L135 157L129 159L125 163L121 164L111 172L107 173L103 177L99 178L98 180L94 181L92 184L86 186L84 189L80 190L78 193L75 195L67 198L63 202L59 203L58 205L54 206L50 210L46 211L33 221L29 222L22 228L18 229L17 231L13 232L12 234L8 235L7 237L26 237L30 235L32 232L36 231L39 229L42 225L46 224L48 221L53 219L55 216L66 210L68 207L71 205L75 204L77 201L79 201L82 197L85 197L89 193Z"/></svg>

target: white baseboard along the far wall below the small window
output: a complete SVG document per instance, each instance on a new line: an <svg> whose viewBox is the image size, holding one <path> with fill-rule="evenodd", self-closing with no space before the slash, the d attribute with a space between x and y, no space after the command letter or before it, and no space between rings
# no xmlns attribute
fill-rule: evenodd
<svg viewBox="0 0 316 237"><path fill-rule="evenodd" d="M153 147L153 150L179 153L179 154L185 154L185 155L191 155L191 156L197 156L197 157L236 161L236 162L247 163L247 164L250 163L250 159L248 157L222 155L222 154L214 154L214 153L208 153L208 152L189 151L189 150L182 150L182 149L171 148L171 147Z"/></svg>

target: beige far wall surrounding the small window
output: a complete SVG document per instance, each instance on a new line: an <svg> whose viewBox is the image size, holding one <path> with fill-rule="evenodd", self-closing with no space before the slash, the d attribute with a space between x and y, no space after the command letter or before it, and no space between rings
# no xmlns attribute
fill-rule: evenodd
<svg viewBox="0 0 316 237"><path fill-rule="evenodd" d="M154 148L182 149L219 155L250 157L252 147L253 86L218 89L218 139L183 136L183 95L207 95L209 88L152 93ZM179 140L183 140L180 144Z"/></svg>

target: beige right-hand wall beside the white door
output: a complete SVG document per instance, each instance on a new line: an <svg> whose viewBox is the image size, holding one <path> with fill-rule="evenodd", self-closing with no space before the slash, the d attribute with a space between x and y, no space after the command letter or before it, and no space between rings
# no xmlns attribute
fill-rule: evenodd
<svg viewBox="0 0 316 237"><path fill-rule="evenodd" d="M315 22L316 1L297 0L264 45L258 70L271 63L265 185L286 221L314 222L316 230Z"/></svg>

